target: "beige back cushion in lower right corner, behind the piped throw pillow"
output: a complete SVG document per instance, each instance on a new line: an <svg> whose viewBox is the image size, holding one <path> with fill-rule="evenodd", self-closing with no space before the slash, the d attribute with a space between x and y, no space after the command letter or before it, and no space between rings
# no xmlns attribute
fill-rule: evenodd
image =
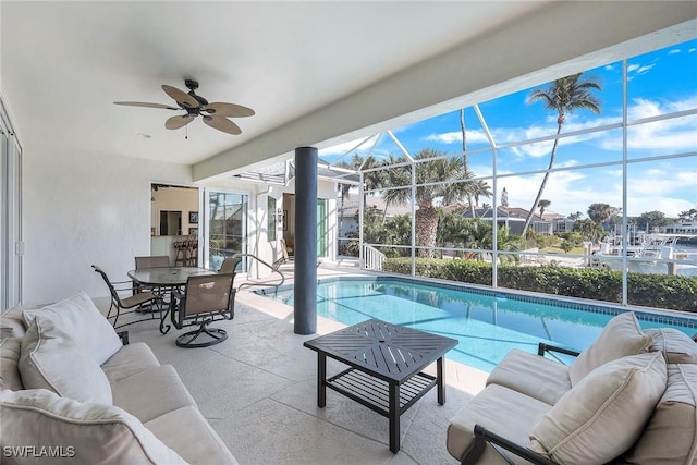
<svg viewBox="0 0 697 465"><path fill-rule="evenodd" d="M669 365L665 393L644 433L623 460L631 464L696 464L696 406L697 365Z"/></svg>

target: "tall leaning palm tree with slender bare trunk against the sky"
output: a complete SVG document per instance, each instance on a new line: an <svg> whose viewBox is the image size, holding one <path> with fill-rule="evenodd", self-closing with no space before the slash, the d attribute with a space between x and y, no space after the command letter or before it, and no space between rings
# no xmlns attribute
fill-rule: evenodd
<svg viewBox="0 0 697 465"><path fill-rule="evenodd" d="M557 158L557 148L559 146L559 135L564 126L566 120L566 113L571 113L575 110L590 110L594 113L600 113L600 101L591 94L594 89L600 90L600 84L595 81L582 81L583 73L573 74L571 76L562 77L550 84L548 89L534 90L527 98L528 103L541 101L545 108L549 110L557 110L557 138L554 138L554 145L552 146L552 152L549 157L549 166L542 183L537 192L535 201L530 211L527 213L525 224L523 225L523 236L527 232L535 208L542 198L542 193L547 186L547 180L549 179L549 172L554 166L554 159Z"/></svg>

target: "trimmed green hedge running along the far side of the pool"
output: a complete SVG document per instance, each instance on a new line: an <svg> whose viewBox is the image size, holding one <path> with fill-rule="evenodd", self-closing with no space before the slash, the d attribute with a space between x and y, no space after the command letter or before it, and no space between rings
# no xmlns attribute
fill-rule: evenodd
<svg viewBox="0 0 697 465"><path fill-rule="evenodd" d="M411 258L390 258L384 271L411 274ZM499 265L501 287L620 304L620 271L557 266ZM491 285L491 264L475 260L416 259L416 276ZM670 274L628 274L631 305L697 313L697 278Z"/></svg>

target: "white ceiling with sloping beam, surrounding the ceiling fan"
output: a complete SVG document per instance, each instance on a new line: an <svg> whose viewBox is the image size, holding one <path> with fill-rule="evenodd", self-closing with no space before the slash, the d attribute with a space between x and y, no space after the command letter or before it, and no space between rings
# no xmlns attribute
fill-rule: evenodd
<svg viewBox="0 0 697 465"><path fill-rule="evenodd" d="M543 76L534 71L590 52L603 52L595 58L602 60L612 54L603 45L697 16L683 5L655 10L661 12L655 19L645 5L639 8L649 9L648 17L636 13L641 25L628 19L628 25L604 27L603 21L616 23L644 3L680 2L638 2L621 7L614 19L610 7L594 2L588 4L598 9L592 14L607 34L549 24L578 8L573 3L584 2L2 1L0 91L25 147L194 164L195 178L204 179L291 152L298 144L327 145L376 124L436 114L466 93L474 98L489 86L502 91L496 85L504 82L509 88L538 84ZM560 38L554 27L587 37ZM516 42L533 39L549 47L516 49ZM540 53L548 58L540 61ZM467 56L476 61L460 63L453 70L462 77L452 79L467 83L425 85L429 76L453 75L439 59ZM519 84L509 82L513 77ZM185 139L184 130L163 126L173 111L112 103L171 105L160 85L185 89L184 78L199 81L197 93L209 101L255 109L255 117L235 120L243 134L194 121ZM424 85L414 87L419 79Z"/></svg>

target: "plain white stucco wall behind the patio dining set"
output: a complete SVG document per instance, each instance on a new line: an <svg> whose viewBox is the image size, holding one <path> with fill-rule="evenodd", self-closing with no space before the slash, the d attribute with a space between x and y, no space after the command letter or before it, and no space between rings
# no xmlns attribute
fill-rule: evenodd
<svg viewBox="0 0 697 465"><path fill-rule="evenodd" d="M126 279L136 255L150 249L150 184L191 183L188 166L75 152L24 150L24 303L41 304L85 291L107 296L98 265Z"/></svg>

